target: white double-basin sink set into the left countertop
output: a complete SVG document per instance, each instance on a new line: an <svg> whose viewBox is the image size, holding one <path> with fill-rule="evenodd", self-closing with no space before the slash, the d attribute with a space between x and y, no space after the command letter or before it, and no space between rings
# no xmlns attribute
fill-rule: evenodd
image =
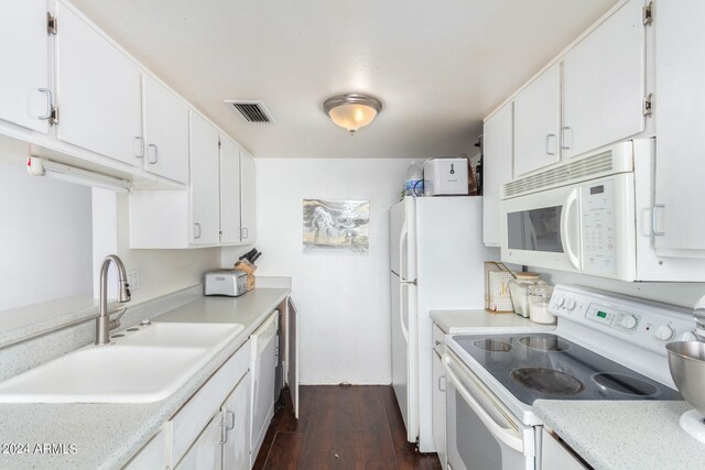
<svg viewBox="0 0 705 470"><path fill-rule="evenodd" d="M171 396L243 330L154 323L0 382L0 403L150 403Z"/></svg>

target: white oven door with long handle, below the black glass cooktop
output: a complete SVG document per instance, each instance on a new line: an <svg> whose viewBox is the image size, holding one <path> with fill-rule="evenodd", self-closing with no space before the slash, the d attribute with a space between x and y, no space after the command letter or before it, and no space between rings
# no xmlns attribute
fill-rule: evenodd
<svg viewBox="0 0 705 470"><path fill-rule="evenodd" d="M447 378L448 467L453 470L533 470L533 427L512 416L453 352L443 354L443 365Z"/></svg>

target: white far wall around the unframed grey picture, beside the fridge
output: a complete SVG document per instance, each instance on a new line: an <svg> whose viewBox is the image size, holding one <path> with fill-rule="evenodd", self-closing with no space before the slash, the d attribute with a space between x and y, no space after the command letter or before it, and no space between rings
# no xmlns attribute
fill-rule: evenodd
<svg viewBox="0 0 705 470"><path fill-rule="evenodd" d="M292 276L304 384L391 383L388 216L410 163L257 160L257 274ZM369 200L369 253L303 254L304 198ZM231 251L224 249L226 265Z"/></svg>

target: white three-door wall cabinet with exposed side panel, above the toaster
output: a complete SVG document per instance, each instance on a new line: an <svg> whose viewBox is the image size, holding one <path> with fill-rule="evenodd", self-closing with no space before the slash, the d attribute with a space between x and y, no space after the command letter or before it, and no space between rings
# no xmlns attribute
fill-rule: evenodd
<svg viewBox="0 0 705 470"><path fill-rule="evenodd" d="M191 112L189 145L187 192L135 190L130 195L131 248L254 242L252 157L194 111ZM245 178L245 175L250 176ZM242 223L247 220L245 227L249 230L243 230Z"/></svg>

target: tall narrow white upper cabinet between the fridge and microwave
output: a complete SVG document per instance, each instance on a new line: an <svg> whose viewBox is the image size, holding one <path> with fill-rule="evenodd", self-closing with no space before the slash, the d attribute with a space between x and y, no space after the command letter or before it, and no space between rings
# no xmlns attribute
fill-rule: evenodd
<svg viewBox="0 0 705 470"><path fill-rule="evenodd" d="M512 177L513 103L485 121L482 147L482 242L499 247L499 190Z"/></svg>

